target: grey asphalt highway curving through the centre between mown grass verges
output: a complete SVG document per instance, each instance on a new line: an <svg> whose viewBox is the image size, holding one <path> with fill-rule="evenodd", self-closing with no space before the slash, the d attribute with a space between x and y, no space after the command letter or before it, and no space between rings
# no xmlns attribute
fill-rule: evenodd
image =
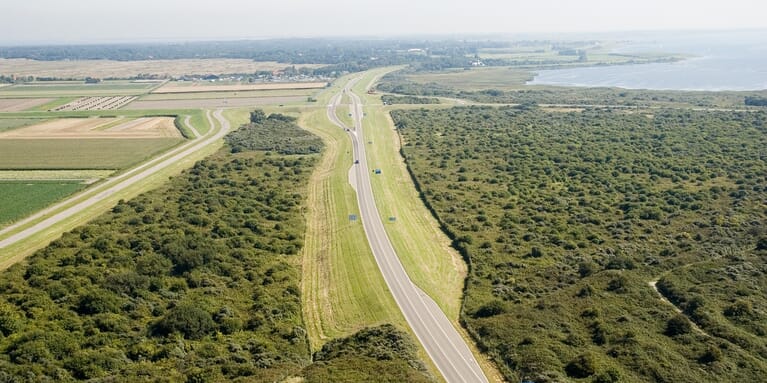
<svg viewBox="0 0 767 383"><path fill-rule="evenodd" d="M344 92L352 100L351 113L354 126L345 126L336 116L336 108L341 101L342 93L333 97L328 105L327 115L334 124L343 129L349 129L349 137L352 139L354 148L354 160L359 160L358 164L353 165L356 171L352 170L352 172L356 177L352 182L356 183L362 224L376 263L405 319L445 380L448 383L487 382L479 363L445 313L431 297L410 280L386 235L373 198L370 169L365 158L362 102L359 96L351 91L351 87L357 81L359 79L350 81L344 88Z"/></svg>

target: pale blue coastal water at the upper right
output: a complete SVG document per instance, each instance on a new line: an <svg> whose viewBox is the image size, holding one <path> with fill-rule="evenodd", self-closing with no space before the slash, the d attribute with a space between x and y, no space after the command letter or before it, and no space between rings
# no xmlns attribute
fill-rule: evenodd
<svg viewBox="0 0 767 383"><path fill-rule="evenodd" d="M767 31L653 36L615 50L641 52L693 57L674 63L542 70L528 84L658 90L767 89Z"/></svg>

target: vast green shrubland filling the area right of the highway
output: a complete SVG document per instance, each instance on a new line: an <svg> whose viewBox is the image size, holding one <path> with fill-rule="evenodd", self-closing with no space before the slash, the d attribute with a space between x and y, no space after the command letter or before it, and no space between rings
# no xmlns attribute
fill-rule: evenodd
<svg viewBox="0 0 767 383"><path fill-rule="evenodd" d="M767 113L391 115L469 261L462 321L509 381L767 376Z"/></svg>

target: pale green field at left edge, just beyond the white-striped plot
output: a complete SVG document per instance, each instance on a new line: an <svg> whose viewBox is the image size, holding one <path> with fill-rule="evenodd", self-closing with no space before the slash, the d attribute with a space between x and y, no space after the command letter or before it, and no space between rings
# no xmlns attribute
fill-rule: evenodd
<svg viewBox="0 0 767 383"><path fill-rule="evenodd" d="M0 97L75 97L75 96L130 96L149 92L157 84L128 81L104 81L98 84L56 82L55 84L18 84L0 88Z"/></svg>

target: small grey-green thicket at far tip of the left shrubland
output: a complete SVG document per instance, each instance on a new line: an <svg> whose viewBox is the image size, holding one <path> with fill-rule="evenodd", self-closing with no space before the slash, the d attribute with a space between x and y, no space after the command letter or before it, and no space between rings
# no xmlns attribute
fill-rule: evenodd
<svg viewBox="0 0 767 383"><path fill-rule="evenodd" d="M250 124L228 134L232 153L248 150L279 154L311 154L322 150L322 140L296 125L296 119L283 114L267 116L262 110L250 113Z"/></svg>

